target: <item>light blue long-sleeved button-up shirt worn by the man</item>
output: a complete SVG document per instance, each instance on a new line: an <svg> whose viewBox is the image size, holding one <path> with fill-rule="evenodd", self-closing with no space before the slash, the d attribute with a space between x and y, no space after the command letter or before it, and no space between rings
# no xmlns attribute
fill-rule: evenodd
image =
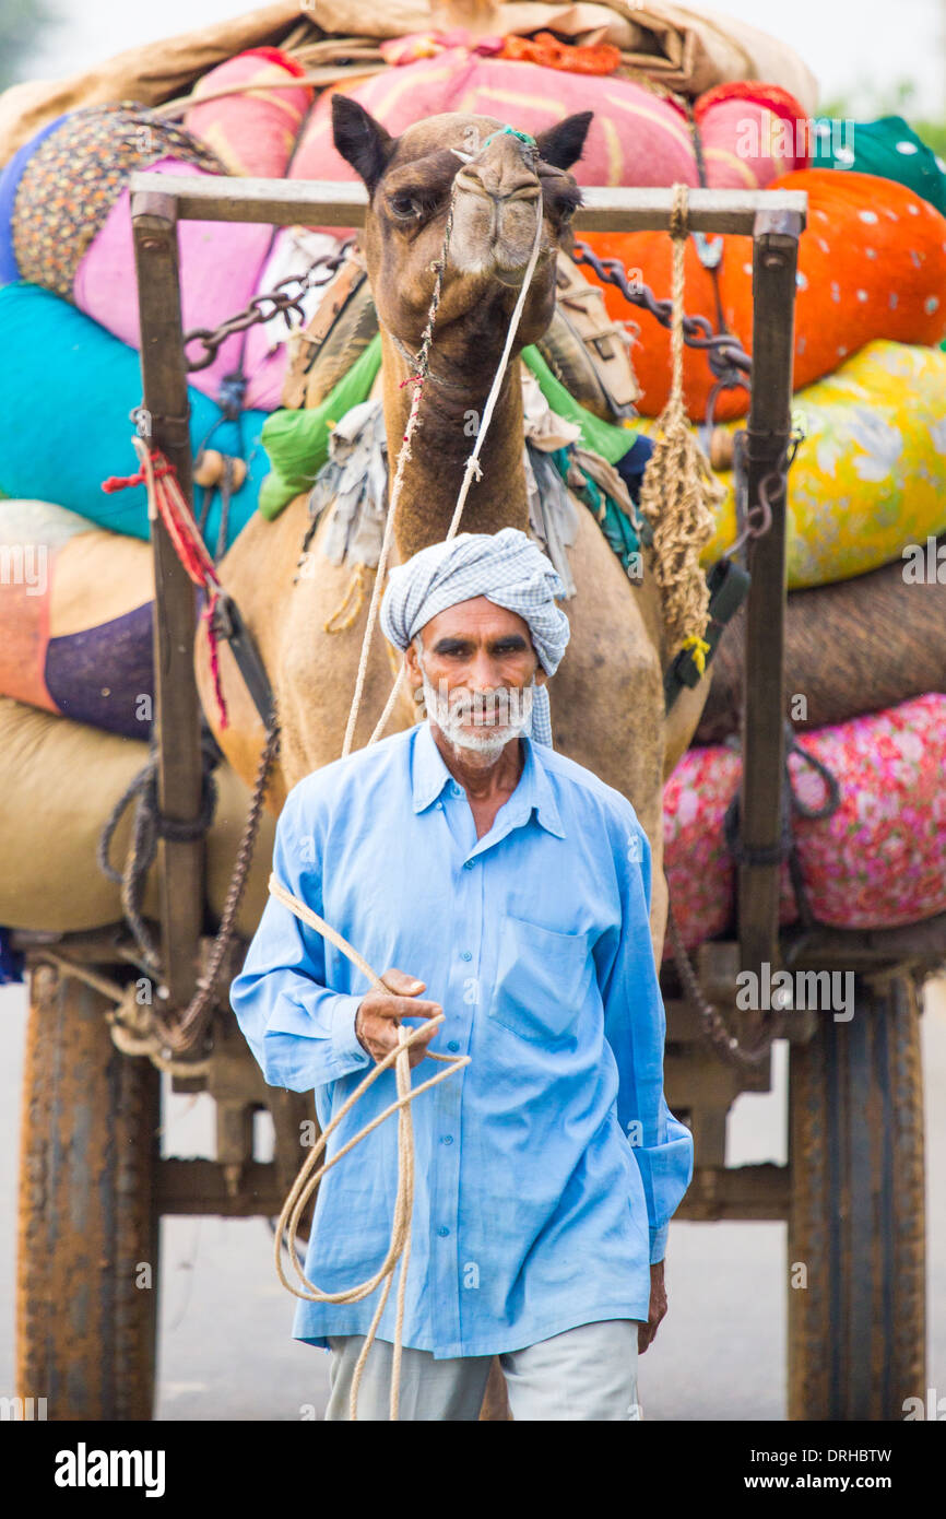
<svg viewBox="0 0 946 1519"><path fill-rule="evenodd" d="M645 1320L650 1262L692 1176L664 1098L650 845L632 804L522 738L519 782L477 840L463 787L421 723L289 794L273 869L383 975L427 983L433 1050L471 1063L412 1104L415 1212L404 1344L436 1358L521 1349L598 1318ZM272 1086L314 1088L322 1127L372 1068L354 1031L363 974L270 898L231 1000ZM410 1027L418 1027L412 1022ZM412 1082L443 1069L421 1060ZM396 1098L393 1068L334 1154ZM305 1273L371 1276L390 1241L396 1116L320 1182ZM367 1334L358 1303L299 1300L293 1335ZM378 1326L393 1340L396 1282Z"/></svg>

